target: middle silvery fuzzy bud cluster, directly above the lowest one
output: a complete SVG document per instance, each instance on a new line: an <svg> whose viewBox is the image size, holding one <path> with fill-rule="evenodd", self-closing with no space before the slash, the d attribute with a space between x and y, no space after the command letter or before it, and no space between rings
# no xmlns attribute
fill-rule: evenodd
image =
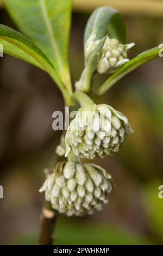
<svg viewBox="0 0 163 256"><path fill-rule="evenodd" d="M117 152L132 133L127 117L109 105L90 104L78 110L66 132L66 155L85 159Z"/></svg>

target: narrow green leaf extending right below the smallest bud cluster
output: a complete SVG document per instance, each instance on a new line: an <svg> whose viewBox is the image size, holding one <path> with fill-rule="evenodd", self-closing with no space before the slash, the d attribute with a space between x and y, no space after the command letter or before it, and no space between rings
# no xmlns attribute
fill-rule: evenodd
<svg viewBox="0 0 163 256"><path fill-rule="evenodd" d="M108 80L106 80L101 87L97 90L93 97L103 95L111 86L113 86L118 80L123 76L126 76L129 72L138 68L139 66L150 62L151 60L159 57L159 47L154 47L150 50L140 53L135 58L131 59L129 62L124 64L120 69L118 69L113 75L111 75Z"/></svg>

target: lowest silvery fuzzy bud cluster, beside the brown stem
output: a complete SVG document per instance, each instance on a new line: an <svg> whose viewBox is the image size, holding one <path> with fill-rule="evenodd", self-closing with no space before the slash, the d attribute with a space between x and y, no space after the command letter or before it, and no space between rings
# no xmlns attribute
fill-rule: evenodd
<svg viewBox="0 0 163 256"><path fill-rule="evenodd" d="M110 174L93 163L60 162L40 192L52 207L68 216L83 216L102 210L112 190Z"/></svg>

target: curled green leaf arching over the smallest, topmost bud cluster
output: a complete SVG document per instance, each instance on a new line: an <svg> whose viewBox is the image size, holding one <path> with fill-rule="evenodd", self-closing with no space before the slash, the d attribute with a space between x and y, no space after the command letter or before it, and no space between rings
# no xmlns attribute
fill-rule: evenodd
<svg viewBox="0 0 163 256"><path fill-rule="evenodd" d="M112 7L99 7L91 14L84 33L84 44L93 30L97 28L95 40L102 39L106 34L126 44L127 27L121 13Z"/></svg>

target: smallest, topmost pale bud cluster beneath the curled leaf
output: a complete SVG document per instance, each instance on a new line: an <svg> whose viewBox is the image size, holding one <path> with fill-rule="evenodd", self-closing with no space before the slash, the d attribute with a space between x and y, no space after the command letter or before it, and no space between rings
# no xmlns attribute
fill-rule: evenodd
<svg viewBox="0 0 163 256"><path fill-rule="evenodd" d="M128 62L127 51L134 45L134 43L123 45L117 39L111 39L107 36L98 61L98 73L114 72Z"/></svg>

